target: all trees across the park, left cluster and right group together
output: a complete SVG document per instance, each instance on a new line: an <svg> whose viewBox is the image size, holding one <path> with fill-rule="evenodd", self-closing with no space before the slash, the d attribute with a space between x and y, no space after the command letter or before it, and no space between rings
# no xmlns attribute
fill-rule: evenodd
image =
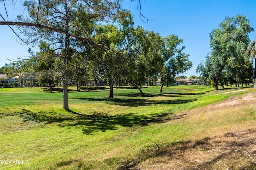
<svg viewBox="0 0 256 170"><path fill-rule="evenodd" d="M163 84L192 67L183 52L183 40L176 35L162 38L154 31L134 27L132 15L118 0L30 0L24 3L28 15L18 21L0 21L18 25L26 43L39 45L40 51L18 64L15 73L37 76L49 84L56 77L63 82L63 107L68 108L68 79L80 82L96 77L110 86L130 83L140 90L148 79L161 78ZM2 17L2 15L1 15ZM3 18L3 17L2 17ZM3 18L4 19L4 18ZM252 76L255 46L248 46L253 31L245 16L226 17L210 33L211 53L197 72L200 82L218 85L248 83ZM246 51L247 48L247 51ZM246 53L246 52L251 52ZM254 56L253 56L254 57Z"/></svg>

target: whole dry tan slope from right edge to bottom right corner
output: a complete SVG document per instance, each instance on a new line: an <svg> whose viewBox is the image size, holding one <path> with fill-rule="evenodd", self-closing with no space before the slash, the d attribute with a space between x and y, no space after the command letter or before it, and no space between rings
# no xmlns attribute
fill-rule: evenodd
<svg viewBox="0 0 256 170"><path fill-rule="evenodd" d="M193 122L196 133L152 151L130 169L255 170L255 112L256 93L252 92L180 113L182 118L175 121Z"/></svg>

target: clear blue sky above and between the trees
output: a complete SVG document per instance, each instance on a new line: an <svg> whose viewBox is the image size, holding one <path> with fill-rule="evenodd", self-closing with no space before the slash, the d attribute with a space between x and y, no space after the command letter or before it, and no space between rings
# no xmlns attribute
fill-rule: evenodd
<svg viewBox="0 0 256 170"><path fill-rule="evenodd" d="M197 75L196 67L210 52L209 33L218 27L225 16L244 15L250 25L256 29L256 1L255 0L140 0L142 14L155 21L144 23L137 10L138 0L124 0L123 8L131 10L134 23L147 30L158 32L162 37L175 34L183 39L186 46L184 52L189 54L193 67L186 76ZM20 1L17 1L20 5ZM16 4L16 5L17 5ZM0 4L0 14L7 20L3 4ZM22 14L22 8L8 7L9 20ZM2 21L2 18L0 18ZM146 21L146 20L144 20ZM250 33L250 39L255 39L256 33ZM28 45L20 45L17 37L7 25L0 25L0 67L4 66L6 58L16 61L17 56L28 56ZM36 51L37 49L34 49Z"/></svg>

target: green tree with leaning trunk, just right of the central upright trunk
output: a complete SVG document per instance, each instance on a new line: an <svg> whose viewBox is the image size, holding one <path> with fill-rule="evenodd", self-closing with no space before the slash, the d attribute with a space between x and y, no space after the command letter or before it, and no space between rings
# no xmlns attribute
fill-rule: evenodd
<svg viewBox="0 0 256 170"><path fill-rule="evenodd" d="M136 28L135 35L133 62L124 75L126 81L138 88L143 95L140 86L148 79L156 80L164 64L161 54L163 40L158 33L146 31L142 27Z"/></svg>

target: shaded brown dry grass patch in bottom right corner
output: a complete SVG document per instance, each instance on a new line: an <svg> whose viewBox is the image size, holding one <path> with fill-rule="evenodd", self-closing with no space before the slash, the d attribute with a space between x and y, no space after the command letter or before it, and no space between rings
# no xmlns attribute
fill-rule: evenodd
<svg viewBox="0 0 256 170"><path fill-rule="evenodd" d="M134 169L204 170L256 168L256 129L229 129L228 133L173 143L154 150ZM151 152L152 153L152 152ZM144 153L145 154L145 153Z"/></svg>

